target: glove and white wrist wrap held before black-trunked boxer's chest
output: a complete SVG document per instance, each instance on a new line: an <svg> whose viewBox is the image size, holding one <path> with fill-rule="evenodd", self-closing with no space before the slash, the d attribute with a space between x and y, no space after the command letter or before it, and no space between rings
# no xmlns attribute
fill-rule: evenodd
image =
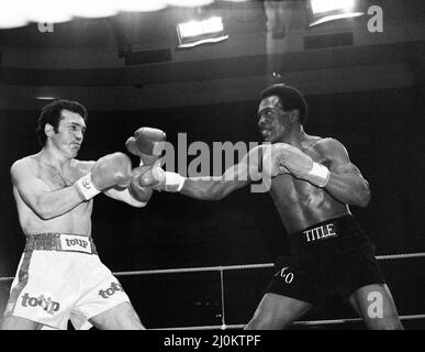
<svg viewBox="0 0 425 352"><path fill-rule="evenodd" d="M326 166L314 162L310 155L286 143L276 143L265 150L262 170L270 177L290 173L317 187L325 187L331 177Z"/></svg>

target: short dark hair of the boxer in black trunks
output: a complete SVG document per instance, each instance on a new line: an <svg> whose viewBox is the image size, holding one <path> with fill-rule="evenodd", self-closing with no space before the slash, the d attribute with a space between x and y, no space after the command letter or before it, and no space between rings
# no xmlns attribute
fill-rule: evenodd
<svg viewBox="0 0 425 352"><path fill-rule="evenodd" d="M284 84L276 84L260 92L261 100L271 96L279 97L283 111L298 110L300 112L300 124L305 124L309 109L303 95L299 90Z"/></svg>

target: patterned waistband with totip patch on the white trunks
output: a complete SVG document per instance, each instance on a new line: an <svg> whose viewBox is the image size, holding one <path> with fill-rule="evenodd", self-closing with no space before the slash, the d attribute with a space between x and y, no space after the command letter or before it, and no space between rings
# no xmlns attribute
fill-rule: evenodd
<svg viewBox="0 0 425 352"><path fill-rule="evenodd" d="M71 233L27 234L24 251L59 251L98 254L91 238Z"/></svg>

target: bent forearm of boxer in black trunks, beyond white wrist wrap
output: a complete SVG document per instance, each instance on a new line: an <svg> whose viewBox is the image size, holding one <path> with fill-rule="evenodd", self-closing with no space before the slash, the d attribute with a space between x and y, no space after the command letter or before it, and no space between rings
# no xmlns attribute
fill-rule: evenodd
<svg viewBox="0 0 425 352"><path fill-rule="evenodd" d="M365 208L370 201L367 180L358 175L331 173L325 189L340 202Z"/></svg>

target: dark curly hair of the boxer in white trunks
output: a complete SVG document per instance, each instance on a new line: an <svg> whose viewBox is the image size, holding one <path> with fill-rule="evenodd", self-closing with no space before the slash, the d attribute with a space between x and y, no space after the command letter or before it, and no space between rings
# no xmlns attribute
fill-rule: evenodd
<svg viewBox="0 0 425 352"><path fill-rule="evenodd" d="M79 113L81 118L87 122L88 112L87 109L80 105L78 101L59 99L46 105L38 117L37 125L35 128L35 135L37 138L38 144L44 146L46 144L46 133L44 133L44 127L46 123L53 125L53 130L57 133L59 127L59 121L63 119L61 111L69 110L71 112Z"/></svg>

